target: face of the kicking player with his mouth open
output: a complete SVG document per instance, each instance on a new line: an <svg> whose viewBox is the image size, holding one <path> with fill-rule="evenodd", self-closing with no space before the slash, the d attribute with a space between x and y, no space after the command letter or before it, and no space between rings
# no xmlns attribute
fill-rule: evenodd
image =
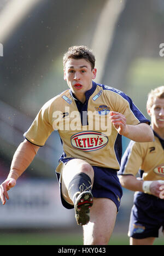
<svg viewBox="0 0 164 256"><path fill-rule="evenodd" d="M84 98L85 92L92 88L92 79L96 78L96 68L85 59L69 59L64 69L64 79L75 96ZM80 100L79 98L79 100Z"/></svg>

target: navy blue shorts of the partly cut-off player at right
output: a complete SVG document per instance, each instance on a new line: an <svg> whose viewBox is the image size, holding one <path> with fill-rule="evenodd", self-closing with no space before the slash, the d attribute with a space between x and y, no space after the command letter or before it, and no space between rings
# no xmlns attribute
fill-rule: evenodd
<svg viewBox="0 0 164 256"><path fill-rule="evenodd" d="M136 239L159 237L161 226L164 228L164 200L142 192L135 193L128 236Z"/></svg>

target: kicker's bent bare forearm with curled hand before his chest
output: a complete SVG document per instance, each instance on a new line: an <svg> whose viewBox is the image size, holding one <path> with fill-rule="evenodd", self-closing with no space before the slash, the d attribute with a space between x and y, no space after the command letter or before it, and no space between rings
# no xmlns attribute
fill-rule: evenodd
<svg viewBox="0 0 164 256"><path fill-rule="evenodd" d="M125 115L114 111L110 112L110 120L120 135L125 136L132 141L151 142L154 139L153 130L147 123L128 125Z"/></svg>

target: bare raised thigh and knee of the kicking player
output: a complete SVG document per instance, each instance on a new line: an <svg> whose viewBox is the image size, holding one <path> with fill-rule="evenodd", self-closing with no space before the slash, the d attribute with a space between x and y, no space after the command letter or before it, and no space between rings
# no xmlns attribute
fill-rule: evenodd
<svg viewBox="0 0 164 256"><path fill-rule="evenodd" d="M80 172L85 172L91 178L91 181L93 184L93 178L94 178L93 168L90 164L88 164L84 160L72 159L66 164L66 166L63 168L63 171L62 171L62 178L61 178L62 196L67 202L71 204L73 204L73 202L68 195L69 183L72 181L73 177Z"/></svg>

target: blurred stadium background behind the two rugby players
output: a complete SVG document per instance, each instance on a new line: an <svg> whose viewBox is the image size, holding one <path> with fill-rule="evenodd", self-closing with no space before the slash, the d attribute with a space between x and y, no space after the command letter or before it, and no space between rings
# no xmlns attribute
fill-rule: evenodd
<svg viewBox="0 0 164 256"><path fill-rule="evenodd" d="M40 107L67 89L62 56L88 45L96 56L96 82L128 94L148 117L148 92L164 84L163 0L1 0L0 179ZM123 150L128 140L123 138ZM82 245L73 210L60 202L55 177L62 153L57 132L0 206L1 245ZM124 196L110 245L128 244L133 193ZM110 212L109 212L110 214ZM163 244L160 234L156 244Z"/></svg>

